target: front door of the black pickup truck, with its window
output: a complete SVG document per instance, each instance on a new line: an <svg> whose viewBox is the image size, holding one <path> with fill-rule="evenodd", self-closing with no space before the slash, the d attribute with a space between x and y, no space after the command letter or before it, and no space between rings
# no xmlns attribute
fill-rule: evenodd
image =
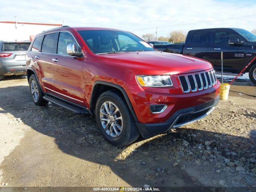
<svg viewBox="0 0 256 192"><path fill-rule="evenodd" d="M240 39L232 30L215 30L210 61L216 71L221 71L221 52L223 52L223 71L238 73L244 60L244 48L228 44L230 39Z"/></svg>

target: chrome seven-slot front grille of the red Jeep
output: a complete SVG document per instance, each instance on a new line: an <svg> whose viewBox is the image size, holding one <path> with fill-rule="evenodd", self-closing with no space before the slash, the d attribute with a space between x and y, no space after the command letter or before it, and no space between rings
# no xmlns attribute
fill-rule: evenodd
<svg viewBox="0 0 256 192"><path fill-rule="evenodd" d="M198 74L181 75L178 78L184 93L208 89L217 84L214 70Z"/></svg>

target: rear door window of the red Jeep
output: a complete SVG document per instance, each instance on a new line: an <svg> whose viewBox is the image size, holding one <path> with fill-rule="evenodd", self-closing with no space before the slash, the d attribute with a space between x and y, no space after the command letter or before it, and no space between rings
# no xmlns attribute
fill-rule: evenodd
<svg viewBox="0 0 256 192"><path fill-rule="evenodd" d="M56 53L56 40L58 33L50 33L44 36L42 51L44 53Z"/></svg>

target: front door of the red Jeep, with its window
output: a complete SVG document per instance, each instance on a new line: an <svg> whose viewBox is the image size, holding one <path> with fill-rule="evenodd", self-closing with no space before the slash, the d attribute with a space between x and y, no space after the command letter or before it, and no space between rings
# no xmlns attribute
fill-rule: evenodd
<svg viewBox="0 0 256 192"><path fill-rule="evenodd" d="M57 96L84 105L83 59L67 53L67 45L73 43L80 47L70 32L60 32L57 54L52 56L53 86Z"/></svg>

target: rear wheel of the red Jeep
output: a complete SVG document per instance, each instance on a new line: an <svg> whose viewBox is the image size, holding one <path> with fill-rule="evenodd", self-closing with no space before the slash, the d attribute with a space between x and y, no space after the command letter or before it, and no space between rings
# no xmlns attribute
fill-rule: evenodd
<svg viewBox="0 0 256 192"><path fill-rule="evenodd" d="M35 75L31 75L29 78L29 90L32 100L36 105L45 106L48 103L48 101L43 99L44 94L36 80Z"/></svg>

